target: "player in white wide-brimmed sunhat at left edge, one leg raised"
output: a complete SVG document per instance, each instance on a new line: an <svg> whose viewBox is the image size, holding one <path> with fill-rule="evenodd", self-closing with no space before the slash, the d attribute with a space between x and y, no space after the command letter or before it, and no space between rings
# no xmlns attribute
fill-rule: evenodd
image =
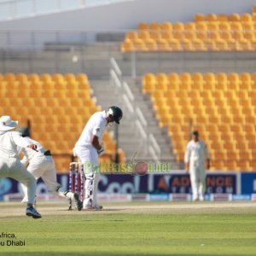
<svg viewBox="0 0 256 256"><path fill-rule="evenodd" d="M18 125L9 116L0 118L0 179L12 177L27 188L26 215L41 218L41 214L33 207L36 198L37 183L35 178L20 163L19 147L30 148L36 152L37 145L28 143L18 131L12 131Z"/></svg>

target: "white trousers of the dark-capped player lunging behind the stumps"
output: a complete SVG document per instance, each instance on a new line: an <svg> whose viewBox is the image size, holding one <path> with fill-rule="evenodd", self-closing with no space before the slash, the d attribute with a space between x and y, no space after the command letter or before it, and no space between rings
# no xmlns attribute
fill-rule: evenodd
<svg viewBox="0 0 256 256"><path fill-rule="evenodd" d="M44 183L49 189L49 192L56 193L58 195L61 195L62 197L65 197L65 195L63 195L63 189L61 189L61 185L57 183L55 160L52 158L51 155L40 155L33 158L29 162L29 166L27 166L27 171L30 172L32 176L36 178L36 180L38 180L39 177L42 177ZM22 186L22 189L25 195L22 201L26 202L26 187Z"/></svg>

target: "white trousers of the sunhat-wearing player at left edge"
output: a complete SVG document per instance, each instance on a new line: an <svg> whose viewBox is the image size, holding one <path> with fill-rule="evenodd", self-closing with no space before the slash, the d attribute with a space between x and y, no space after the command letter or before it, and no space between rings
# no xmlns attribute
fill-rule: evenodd
<svg viewBox="0 0 256 256"><path fill-rule="evenodd" d="M0 158L0 179L3 177L12 177L16 181L23 184L27 189L27 202L30 204L35 203L37 182L30 172L20 163L19 159Z"/></svg>

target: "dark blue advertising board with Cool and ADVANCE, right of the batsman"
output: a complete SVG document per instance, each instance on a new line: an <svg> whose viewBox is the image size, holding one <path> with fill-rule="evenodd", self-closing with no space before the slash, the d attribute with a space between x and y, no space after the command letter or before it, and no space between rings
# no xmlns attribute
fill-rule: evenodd
<svg viewBox="0 0 256 256"><path fill-rule="evenodd" d="M236 173L207 173L207 194L236 194ZM102 193L191 193L189 174L154 174L145 176L104 175L99 183Z"/></svg>

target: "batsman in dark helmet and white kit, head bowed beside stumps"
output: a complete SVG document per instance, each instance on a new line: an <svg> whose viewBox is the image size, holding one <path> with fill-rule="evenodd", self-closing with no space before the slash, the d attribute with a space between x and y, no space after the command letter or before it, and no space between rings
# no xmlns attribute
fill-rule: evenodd
<svg viewBox="0 0 256 256"><path fill-rule="evenodd" d="M84 163L90 163L91 166L98 164L98 156L104 154L104 148L102 147L102 135L109 123L119 124L119 120L122 119L122 110L116 106L108 108L107 111L94 113L84 130L79 137L79 141L73 148L74 156L79 157L79 161ZM86 167L84 167L84 172ZM84 209L102 209L96 202L96 190L99 182L100 173L96 172L95 168L91 167L90 170L85 172L84 183Z"/></svg>

